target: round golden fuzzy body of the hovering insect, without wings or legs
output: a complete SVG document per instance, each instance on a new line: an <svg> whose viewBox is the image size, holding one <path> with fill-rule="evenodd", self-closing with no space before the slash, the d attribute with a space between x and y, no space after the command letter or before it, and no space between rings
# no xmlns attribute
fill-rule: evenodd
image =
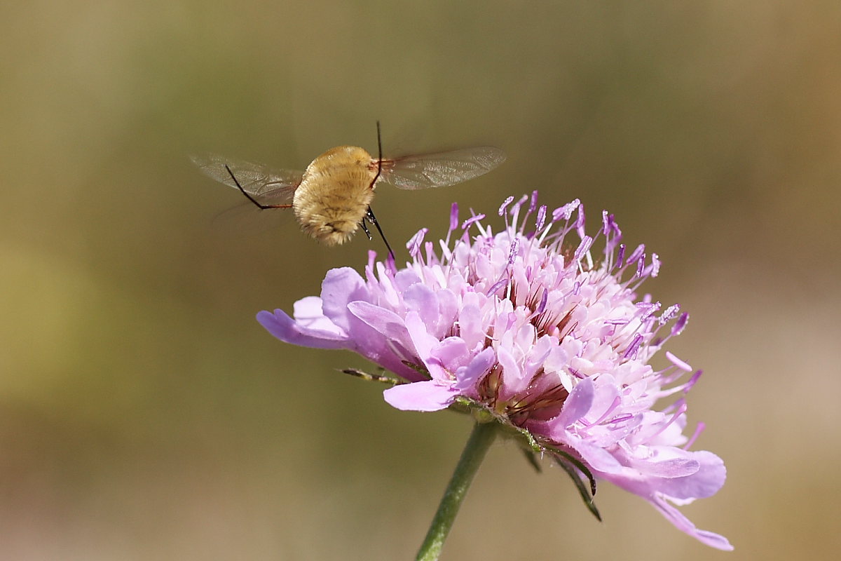
<svg viewBox="0 0 841 561"><path fill-rule="evenodd" d="M336 146L307 166L292 201L304 232L328 246L356 233L373 198L377 168L371 162L358 146Z"/></svg>

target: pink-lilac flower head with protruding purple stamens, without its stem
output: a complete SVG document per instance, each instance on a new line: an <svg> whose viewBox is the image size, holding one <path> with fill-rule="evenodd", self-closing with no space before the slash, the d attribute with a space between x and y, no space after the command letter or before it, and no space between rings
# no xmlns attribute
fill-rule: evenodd
<svg viewBox="0 0 841 561"><path fill-rule="evenodd" d="M715 454L688 450L702 426L684 435L682 396L653 409L701 374L670 352L667 368L649 364L688 317L635 294L659 273L657 254L629 251L606 212L588 236L578 200L550 210L535 192L506 199L499 214L505 228L494 234L484 214L459 224L453 204L437 252L423 229L407 244L406 267L371 252L364 278L333 269L320 298L295 304L294 319L282 310L257 319L282 341L349 349L399 374L408 383L384 392L398 409L481 404L642 496L683 532L732 549L674 507L714 495L726 472Z"/></svg>

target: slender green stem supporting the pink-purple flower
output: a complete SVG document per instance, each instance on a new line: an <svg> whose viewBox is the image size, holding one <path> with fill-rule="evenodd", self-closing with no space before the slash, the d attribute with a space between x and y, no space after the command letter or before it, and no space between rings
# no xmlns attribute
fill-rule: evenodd
<svg viewBox="0 0 841 561"><path fill-rule="evenodd" d="M458 508L468 493L473 475L479 470L479 465L484 459L484 454L488 452L491 442L494 442L497 426L495 422L477 422L473 426L473 432L464 447L461 459L458 460L458 466L452 474L447 490L444 491L441 504L438 505L438 511L432 519L429 532L426 532L426 538L421 544L415 561L435 561L441 555L444 540L450 533L452 522L456 520Z"/></svg>

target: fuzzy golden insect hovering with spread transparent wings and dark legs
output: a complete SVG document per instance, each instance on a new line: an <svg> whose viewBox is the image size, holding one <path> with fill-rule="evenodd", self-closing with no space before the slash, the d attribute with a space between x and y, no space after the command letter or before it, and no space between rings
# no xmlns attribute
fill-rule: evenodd
<svg viewBox="0 0 841 561"><path fill-rule="evenodd" d="M377 227L371 210L378 183L416 190L446 187L479 177L505 161L493 146L383 158L377 123L378 157L359 146L336 146L309 163L304 172L272 170L262 164L215 154L191 156L205 175L239 189L260 209L293 209L301 229L327 246L348 241L365 221ZM389 242L385 240L386 246ZM391 251L389 246L389 252Z"/></svg>

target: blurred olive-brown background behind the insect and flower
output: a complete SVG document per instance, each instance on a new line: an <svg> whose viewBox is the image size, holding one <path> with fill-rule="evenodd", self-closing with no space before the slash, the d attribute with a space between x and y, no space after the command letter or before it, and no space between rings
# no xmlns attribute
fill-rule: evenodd
<svg viewBox="0 0 841 561"><path fill-rule="evenodd" d="M470 430L405 413L285 345L327 269L288 212L188 155L303 168L326 149L495 145L452 188L383 187L395 248L449 204L610 209L690 326L696 448L729 470L683 511L720 553L603 484L498 443L444 559L834 558L841 5L303 0L8 3L0 23L0 558L414 558ZM463 210L466 212L466 210ZM833 554L833 551L835 552Z"/></svg>

